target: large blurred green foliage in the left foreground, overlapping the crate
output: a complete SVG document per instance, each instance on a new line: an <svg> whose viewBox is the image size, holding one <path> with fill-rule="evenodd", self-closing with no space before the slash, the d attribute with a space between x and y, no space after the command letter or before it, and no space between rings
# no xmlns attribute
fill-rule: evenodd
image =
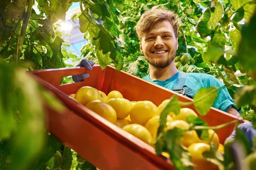
<svg viewBox="0 0 256 170"><path fill-rule="evenodd" d="M0 79L0 165L25 170L45 141L43 102L51 103L53 109L64 108L26 69L3 59Z"/></svg>

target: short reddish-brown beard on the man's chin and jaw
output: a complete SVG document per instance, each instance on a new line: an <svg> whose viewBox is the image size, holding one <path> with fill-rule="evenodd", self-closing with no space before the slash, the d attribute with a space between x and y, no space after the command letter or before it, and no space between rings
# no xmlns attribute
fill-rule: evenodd
<svg viewBox="0 0 256 170"><path fill-rule="evenodd" d="M174 51L171 54L171 57L168 57L167 59L159 60L159 59L154 59L152 57L145 57L145 59L150 65L154 66L155 68L166 68L173 62L175 56L176 56L176 51Z"/></svg>

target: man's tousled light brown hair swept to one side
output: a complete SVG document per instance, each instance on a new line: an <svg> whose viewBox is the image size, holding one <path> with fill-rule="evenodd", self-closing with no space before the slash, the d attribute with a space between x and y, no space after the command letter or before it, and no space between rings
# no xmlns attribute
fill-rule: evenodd
<svg viewBox="0 0 256 170"><path fill-rule="evenodd" d="M171 23L175 37L177 38L178 15L165 7L153 7L141 15L137 25L134 27L139 40L141 41L141 37L149 32L156 22L163 20L167 20Z"/></svg>

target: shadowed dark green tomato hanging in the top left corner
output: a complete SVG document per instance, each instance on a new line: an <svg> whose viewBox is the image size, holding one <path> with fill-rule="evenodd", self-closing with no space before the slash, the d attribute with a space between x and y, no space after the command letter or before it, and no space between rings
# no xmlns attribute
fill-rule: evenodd
<svg viewBox="0 0 256 170"><path fill-rule="evenodd" d="M10 2L4 12L5 16L9 16L11 19L21 19L26 12L26 8L18 8L12 2Z"/></svg>

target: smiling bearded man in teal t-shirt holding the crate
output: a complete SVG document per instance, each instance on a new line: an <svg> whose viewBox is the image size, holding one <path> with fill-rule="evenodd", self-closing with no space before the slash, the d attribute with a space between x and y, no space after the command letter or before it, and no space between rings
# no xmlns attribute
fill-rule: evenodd
<svg viewBox="0 0 256 170"><path fill-rule="evenodd" d="M178 16L167 8L153 7L142 14L135 26L140 51L149 64L147 81L193 98L202 87L224 86L209 74L184 73L175 67L174 58L178 49ZM241 117L234 100L226 87L218 91L214 108Z"/></svg>

